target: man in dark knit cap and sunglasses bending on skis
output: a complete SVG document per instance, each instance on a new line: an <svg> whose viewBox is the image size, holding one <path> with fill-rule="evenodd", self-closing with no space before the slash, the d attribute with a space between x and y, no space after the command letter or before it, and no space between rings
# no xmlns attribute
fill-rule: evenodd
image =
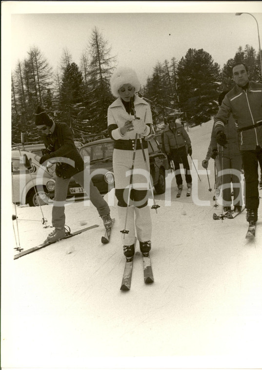
<svg viewBox="0 0 262 370"><path fill-rule="evenodd" d="M112 219L109 206L98 188L93 185L88 169L84 167L70 127L66 123L55 123L41 107L37 107L35 124L46 147L46 154L40 158L40 165L46 166L48 162L56 163L55 197L52 208L52 224L55 229L47 236L46 241L60 240L66 236L64 204L71 177L89 195L90 201L97 208L105 228L111 227Z"/></svg>

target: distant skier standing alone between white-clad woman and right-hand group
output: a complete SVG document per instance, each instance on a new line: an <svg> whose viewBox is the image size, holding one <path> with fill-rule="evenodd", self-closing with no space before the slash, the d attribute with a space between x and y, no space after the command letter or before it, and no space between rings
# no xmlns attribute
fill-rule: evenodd
<svg viewBox="0 0 262 370"><path fill-rule="evenodd" d="M176 123L176 116L169 114L167 116L167 127L164 129L163 139L164 147L168 156L171 156L175 166L175 176L178 189L182 189L182 176L180 171L180 159L185 169L185 180L187 187L192 187L192 177L190 175L190 167L187 159L186 144L188 146L188 154L192 155L191 140L188 133L180 123Z"/></svg>

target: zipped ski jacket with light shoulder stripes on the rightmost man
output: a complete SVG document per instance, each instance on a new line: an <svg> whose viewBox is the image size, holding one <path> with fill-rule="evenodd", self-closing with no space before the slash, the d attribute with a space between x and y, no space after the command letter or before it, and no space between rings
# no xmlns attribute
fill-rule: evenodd
<svg viewBox="0 0 262 370"><path fill-rule="evenodd" d="M215 132L224 131L232 113L240 134L240 150L262 147L262 84L249 81L246 91L236 85L224 97L215 117Z"/></svg>

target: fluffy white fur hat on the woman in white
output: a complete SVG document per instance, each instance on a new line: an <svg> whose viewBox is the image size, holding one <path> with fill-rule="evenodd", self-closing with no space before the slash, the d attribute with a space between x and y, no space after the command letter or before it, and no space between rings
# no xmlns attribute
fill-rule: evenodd
<svg viewBox="0 0 262 370"><path fill-rule="evenodd" d="M135 92L140 91L140 82L136 72L132 68L120 67L111 76L111 92L115 97L119 97L119 89L125 84L134 86Z"/></svg>

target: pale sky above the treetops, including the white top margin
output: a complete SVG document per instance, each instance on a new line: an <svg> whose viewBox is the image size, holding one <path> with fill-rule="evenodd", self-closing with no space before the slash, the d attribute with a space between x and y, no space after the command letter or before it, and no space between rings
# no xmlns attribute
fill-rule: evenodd
<svg viewBox="0 0 262 370"><path fill-rule="evenodd" d="M56 72L64 49L80 65L92 29L97 27L108 41L119 66L133 67L141 85L153 67L165 59L177 61L189 48L203 49L222 67L239 46L259 50L262 3L178 1L13 1L2 11L10 14L11 69L37 46ZM3 13L3 16L5 13ZM11 46L11 48L10 48Z"/></svg>

